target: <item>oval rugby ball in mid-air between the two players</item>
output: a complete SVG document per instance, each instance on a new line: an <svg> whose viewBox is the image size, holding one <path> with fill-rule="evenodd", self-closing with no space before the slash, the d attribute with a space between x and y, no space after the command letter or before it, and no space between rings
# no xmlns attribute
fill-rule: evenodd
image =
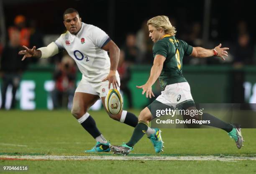
<svg viewBox="0 0 256 174"><path fill-rule="evenodd" d="M123 108L123 98L118 90L111 89L108 91L108 95L105 97L105 106L110 114L120 113Z"/></svg>

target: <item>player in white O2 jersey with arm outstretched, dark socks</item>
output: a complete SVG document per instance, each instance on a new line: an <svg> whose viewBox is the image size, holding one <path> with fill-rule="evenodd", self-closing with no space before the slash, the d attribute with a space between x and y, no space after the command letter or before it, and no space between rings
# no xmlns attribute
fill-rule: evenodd
<svg viewBox="0 0 256 174"><path fill-rule="evenodd" d="M82 80L79 83L72 107L72 115L82 127L95 138L96 145L85 152L108 152L110 143L97 129L95 120L87 113L87 110L99 99L105 107L105 96L110 88L119 90L120 78L117 72L120 50L109 36L100 28L82 23L79 13L74 8L68 8L63 14L64 26L67 32L46 47L36 50L36 46L19 52L23 54L22 60L27 57L48 58L62 50L66 50L77 67L82 72ZM109 55L108 56L108 52ZM121 123L136 127L138 118L125 110L117 115L108 113L110 118ZM161 131L157 128L149 128L146 134L154 145L155 151L160 152L163 142L159 138Z"/></svg>

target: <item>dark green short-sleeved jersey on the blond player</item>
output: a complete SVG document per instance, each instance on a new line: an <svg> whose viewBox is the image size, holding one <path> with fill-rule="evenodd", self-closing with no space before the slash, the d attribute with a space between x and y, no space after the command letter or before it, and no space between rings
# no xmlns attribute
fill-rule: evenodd
<svg viewBox="0 0 256 174"><path fill-rule="evenodd" d="M161 40L154 44L154 57L157 54L160 54L166 58L159 76L162 91L168 84L187 82L182 75L182 59L184 55L189 56L192 53L192 50L193 47L185 41L170 35L165 35Z"/></svg>

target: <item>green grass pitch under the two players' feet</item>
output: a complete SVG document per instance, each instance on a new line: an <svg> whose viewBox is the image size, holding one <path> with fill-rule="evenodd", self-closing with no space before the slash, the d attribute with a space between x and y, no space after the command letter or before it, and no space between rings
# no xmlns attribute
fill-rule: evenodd
<svg viewBox="0 0 256 174"><path fill-rule="evenodd" d="M131 110L138 115L139 110ZM133 128L112 120L102 111L90 111L97 127L110 143L127 142ZM256 155L256 129L242 129L244 147L238 150L227 133L219 129L161 129L164 152L155 154L143 137L128 156L240 156ZM22 173L256 173L255 160L7 160L3 155L88 156L85 149L95 140L66 110L0 111L0 166L29 166ZM103 153L96 156L110 156ZM115 157L115 156L113 156ZM114 159L114 158L113 158ZM1 171L5 172L5 171ZM12 172L8 172L12 173ZM17 172L15 172L17 173Z"/></svg>

